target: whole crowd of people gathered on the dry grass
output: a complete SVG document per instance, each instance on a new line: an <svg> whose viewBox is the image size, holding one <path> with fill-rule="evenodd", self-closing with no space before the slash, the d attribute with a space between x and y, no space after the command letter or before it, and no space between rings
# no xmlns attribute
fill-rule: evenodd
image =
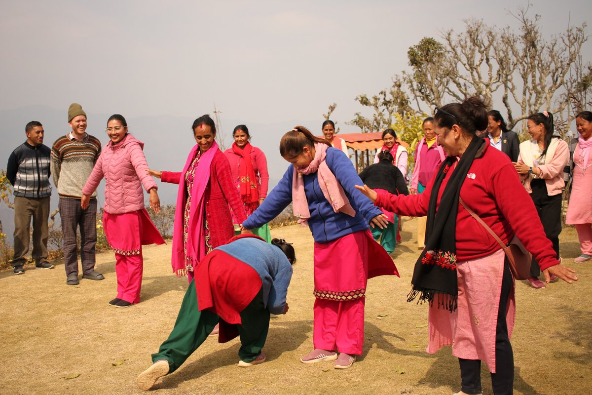
<svg viewBox="0 0 592 395"><path fill-rule="evenodd" d="M554 133L551 113L532 114L532 138L520 143L499 111L487 111L480 98L444 105L423 121L412 172L410 146L393 129L382 133L384 146L374 164L358 174L332 121L322 124L321 136L295 126L279 143L289 165L271 191L265 154L252 146L245 125L234 128L234 143L222 152L212 118L197 118L191 126L196 144L178 172L149 168L144 143L130 133L123 115L108 118L104 146L86 133L81 105L70 105L67 121L71 131L51 148L43 144L43 125L31 121L27 141L8 159L15 195L13 271L24 274L31 219L35 265L54 268L47 260L53 178L66 284L79 284L78 230L82 278L104 280L95 271L95 224L96 189L105 179L102 223L117 275L117 296L108 304L140 303L142 246L164 243L144 207L144 191L158 213L153 177L178 184L171 265L189 285L169 338L136 380L143 390L178 369L214 334L220 342L240 336L240 367L265 362L269 317L288 311L296 260L290 243L272 240L268 223L289 204L314 239L313 349L301 362L352 367L362 354L368 279L398 275L392 252L400 243L399 216L417 217L422 252L408 301L429 306L427 352L451 345L458 357L458 394L481 393L481 361L491 372L494 394L511 394L514 378L515 281L504 250L474 217L503 243L519 237L533 254L532 287L555 278L571 283L577 276L559 265L559 233L562 194L572 179L566 223L575 225L580 240L575 262L592 259L590 111L577 114L580 136L570 143Z"/></svg>

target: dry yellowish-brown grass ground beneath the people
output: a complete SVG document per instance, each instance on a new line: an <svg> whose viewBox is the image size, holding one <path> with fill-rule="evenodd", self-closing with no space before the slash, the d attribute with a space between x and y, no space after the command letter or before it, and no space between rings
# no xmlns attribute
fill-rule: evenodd
<svg viewBox="0 0 592 395"><path fill-rule="evenodd" d="M312 348L313 240L307 229L272 231L294 242L298 263L288 291L290 310L273 317L265 364L236 366L239 342L208 339L186 364L165 377L158 394L442 394L459 390L458 362L445 348L427 345L425 306L406 303L418 251L415 221L404 223L403 245L394 253L401 278L369 281L364 354L352 368L330 362L304 365ZM592 392L592 264L572 264L579 255L574 229L561 236L562 256L580 281L535 290L516 284L513 336L516 394ZM63 263L25 275L0 273L0 394L140 394L136 376L166 339L187 282L170 269L170 245L144 249L142 301L128 309L109 307L115 296L112 252L97 256L104 281L66 285ZM123 362L123 363L121 363ZM79 375L76 378L73 377ZM484 393L491 394L485 367Z"/></svg>

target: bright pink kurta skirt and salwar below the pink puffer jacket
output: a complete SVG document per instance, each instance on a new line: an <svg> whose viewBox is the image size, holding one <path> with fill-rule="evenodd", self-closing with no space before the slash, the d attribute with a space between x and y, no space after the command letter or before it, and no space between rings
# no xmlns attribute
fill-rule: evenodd
<svg viewBox="0 0 592 395"><path fill-rule="evenodd" d="M140 303L144 261L142 245L163 244L145 208L131 213L103 213L107 242L115 252L117 298Z"/></svg>

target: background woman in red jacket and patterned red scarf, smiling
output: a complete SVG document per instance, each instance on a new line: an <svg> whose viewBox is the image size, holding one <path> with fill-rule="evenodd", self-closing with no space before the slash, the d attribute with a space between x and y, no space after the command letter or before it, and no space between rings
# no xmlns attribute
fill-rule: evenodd
<svg viewBox="0 0 592 395"><path fill-rule="evenodd" d="M243 200L244 211L247 216L250 216L267 196L269 184L267 159L262 150L251 145L251 135L246 125L235 127L232 135L234 143L231 148L224 151L224 155L230 162L230 172ZM234 231L238 235L240 233L239 224L242 221L237 219L232 209L230 213ZM268 224L253 229L253 234L271 243Z"/></svg>

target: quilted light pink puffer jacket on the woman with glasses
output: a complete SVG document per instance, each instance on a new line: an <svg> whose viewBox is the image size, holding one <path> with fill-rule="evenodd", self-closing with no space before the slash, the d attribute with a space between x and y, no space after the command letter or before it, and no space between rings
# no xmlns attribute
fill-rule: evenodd
<svg viewBox="0 0 592 395"><path fill-rule="evenodd" d="M156 187L146 174L148 163L144 157L144 143L131 134L113 146L108 142L102 149L82 194L91 195L105 178L104 210L109 214L131 213L144 208L144 192Z"/></svg>

